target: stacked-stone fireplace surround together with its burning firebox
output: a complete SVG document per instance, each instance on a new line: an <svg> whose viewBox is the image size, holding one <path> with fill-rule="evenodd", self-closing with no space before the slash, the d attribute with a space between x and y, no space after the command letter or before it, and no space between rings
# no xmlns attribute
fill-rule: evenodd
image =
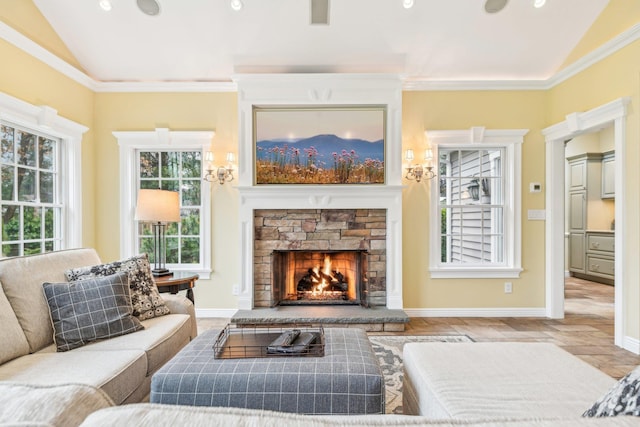
<svg viewBox="0 0 640 427"><path fill-rule="evenodd" d="M254 211L254 306L386 306L385 209Z"/></svg>

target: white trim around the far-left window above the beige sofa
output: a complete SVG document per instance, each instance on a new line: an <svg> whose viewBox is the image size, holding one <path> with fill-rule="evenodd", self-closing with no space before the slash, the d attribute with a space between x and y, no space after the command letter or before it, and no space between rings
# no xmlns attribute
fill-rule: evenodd
<svg viewBox="0 0 640 427"><path fill-rule="evenodd" d="M33 105L3 92L0 92L0 120L60 139L61 246L62 249L81 247L82 135L89 128L59 116L49 106Z"/></svg>

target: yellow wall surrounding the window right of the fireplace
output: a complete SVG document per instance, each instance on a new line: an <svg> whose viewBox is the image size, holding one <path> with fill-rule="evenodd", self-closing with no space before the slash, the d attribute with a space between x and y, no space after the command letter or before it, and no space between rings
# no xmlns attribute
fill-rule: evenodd
<svg viewBox="0 0 640 427"><path fill-rule="evenodd" d="M544 209L545 94L541 91L405 92L403 150L424 150L425 130L529 129L522 146L522 267L519 279L431 279L428 184L406 182L403 197L403 282L405 308L544 307L544 222L527 221L527 209ZM435 181L434 181L435 182ZM433 185L433 184L431 184ZM504 282L513 293L504 293Z"/></svg>

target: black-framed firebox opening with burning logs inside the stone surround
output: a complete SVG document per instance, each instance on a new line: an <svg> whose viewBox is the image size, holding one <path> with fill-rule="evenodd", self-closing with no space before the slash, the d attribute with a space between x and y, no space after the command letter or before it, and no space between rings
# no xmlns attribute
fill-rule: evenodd
<svg viewBox="0 0 640 427"><path fill-rule="evenodd" d="M274 251L272 306L367 302L366 251Z"/></svg>

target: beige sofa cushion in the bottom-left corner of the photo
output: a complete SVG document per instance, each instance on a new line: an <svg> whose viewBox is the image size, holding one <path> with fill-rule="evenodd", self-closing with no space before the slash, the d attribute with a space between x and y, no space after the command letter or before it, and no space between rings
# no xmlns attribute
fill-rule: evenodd
<svg viewBox="0 0 640 427"><path fill-rule="evenodd" d="M111 406L106 393L84 384L0 382L0 425L74 427L92 412Z"/></svg>

